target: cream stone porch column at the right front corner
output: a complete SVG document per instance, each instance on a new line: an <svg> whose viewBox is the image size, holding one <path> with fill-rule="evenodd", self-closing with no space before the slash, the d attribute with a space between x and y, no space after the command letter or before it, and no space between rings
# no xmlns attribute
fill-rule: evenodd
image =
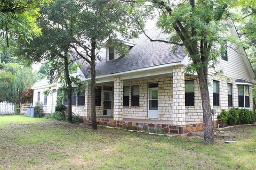
<svg viewBox="0 0 256 170"><path fill-rule="evenodd" d="M173 68L173 124L185 125L185 77L183 66Z"/></svg>

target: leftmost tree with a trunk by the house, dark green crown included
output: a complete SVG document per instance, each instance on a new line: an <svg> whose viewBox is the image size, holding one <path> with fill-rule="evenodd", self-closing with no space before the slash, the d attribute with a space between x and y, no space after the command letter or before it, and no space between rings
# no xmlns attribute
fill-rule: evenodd
<svg viewBox="0 0 256 170"><path fill-rule="evenodd" d="M70 45L74 43L69 35L74 21L70 17L76 15L81 7L76 1L54 1L50 5L41 6L42 16L38 18L37 24L42 29L42 36L35 38L31 43L26 43L18 49L18 54L27 60L41 62L47 60L47 78L50 82L65 74L65 87L68 94L68 122L72 122L72 81L69 75L69 65L74 62L75 57L69 56ZM46 62L47 63L47 62Z"/></svg>

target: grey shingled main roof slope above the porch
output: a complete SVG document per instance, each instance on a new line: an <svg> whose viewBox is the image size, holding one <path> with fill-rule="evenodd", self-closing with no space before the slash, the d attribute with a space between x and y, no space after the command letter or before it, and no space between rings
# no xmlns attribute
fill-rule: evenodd
<svg viewBox="0 0 256 170"><path fill-rule="evenodd" d="M154 33L154 34L153 34ZM148 31L151 38L163 39L159 37L159 30ZM106 55L102 56L102 60L96 64L97 76L114 74L147 67L178 63L186 56L184 47L179 46L175 52L173 51L174 45L161 42L151 42L145 35L141 35L137 39L131 41L135 44L125 56L121 56L115 60L106 62ZM89 76L87 70L87 63L83 60L78 60L81 63L82 72Z"/></svg>

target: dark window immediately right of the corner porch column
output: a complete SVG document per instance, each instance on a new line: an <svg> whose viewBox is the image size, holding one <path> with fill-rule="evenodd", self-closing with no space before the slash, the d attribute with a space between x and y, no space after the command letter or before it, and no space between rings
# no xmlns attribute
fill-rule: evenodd
<svg viewBox="0 0 256 170"><path fill-rule="evenodd" d="M185 106L195 106L194 80L185 81Z"/></svg>

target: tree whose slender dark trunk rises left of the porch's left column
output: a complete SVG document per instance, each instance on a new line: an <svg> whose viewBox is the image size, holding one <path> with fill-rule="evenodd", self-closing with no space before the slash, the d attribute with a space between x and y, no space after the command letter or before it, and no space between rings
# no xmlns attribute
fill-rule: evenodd
<svg viewBox="0 0 256 170"><path fill-rule="evenodd" d="M91 74L91 120L92 128L97 129L95 112L95 64L100 60L99 50L106 40L111 39L113 43L120 44L121 39L137 37L140 32L139 27L131 19L127 8L122 1L93 0L83 1L83 8L75 15L70 15L76 24L71 27L69 33L75 43L72 47L79 57L83 58L90 67ZM138 4L132 4L137 9L141 18L145 17L146 10L142 12ZM120 48L125 52L125 48ZM127 52L127 51L126 51Z"/></svg>

